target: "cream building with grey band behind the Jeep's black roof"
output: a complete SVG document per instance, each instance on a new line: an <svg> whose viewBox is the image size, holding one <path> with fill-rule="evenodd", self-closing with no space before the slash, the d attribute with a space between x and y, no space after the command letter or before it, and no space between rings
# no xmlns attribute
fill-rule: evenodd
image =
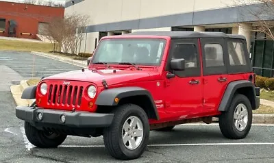
<svg viewBox="0 0 274 163"><path fill-rule="evenodd" d="M272 77L273 41L259 39L251 32L258 18L248 10L260 5L235 5L235 0L66 0L65 14L90 15L86 38L79 48L86 53L94 51L101 37L128 32L194 30L242 34L251 45L255 72Z"/></svg>

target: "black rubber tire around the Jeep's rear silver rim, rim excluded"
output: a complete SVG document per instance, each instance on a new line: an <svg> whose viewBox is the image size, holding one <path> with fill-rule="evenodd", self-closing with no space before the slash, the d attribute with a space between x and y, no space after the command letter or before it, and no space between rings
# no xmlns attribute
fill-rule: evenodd
<svg viewBox="0 0 274 163"><path fill-rule="evenodd" d="M234 111L238 104L244 104L247 108L247 126L242 131L239 131L234 125ZM236 94L232 99L232 103L229 105L227 112L222 112L219 116L219 127L223 136L230 139L242 139L249 134L252 124L252 108L249 99L245 95Z"/></svg>

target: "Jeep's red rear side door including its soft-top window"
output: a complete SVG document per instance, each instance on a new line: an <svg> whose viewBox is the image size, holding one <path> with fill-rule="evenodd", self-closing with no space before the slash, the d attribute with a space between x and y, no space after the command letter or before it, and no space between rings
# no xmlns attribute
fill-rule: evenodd
<svg viewBox="0 0 274 163"><path fill-rule="evenodd" d="M227 87L227 47L224 38L201 38L203 109L216 110Z"/></svg>

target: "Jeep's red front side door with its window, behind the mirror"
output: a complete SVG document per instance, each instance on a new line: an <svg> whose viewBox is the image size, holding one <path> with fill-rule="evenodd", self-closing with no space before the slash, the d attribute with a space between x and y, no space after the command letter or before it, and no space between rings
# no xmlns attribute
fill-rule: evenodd
<svg viewBox="0 0 274 163"><path fill-rule="evenodd" d="M187 118L202 110L201 63L198 39L173 40L169 60L184 58L184 71L172 71L167 64L166 70L175 77L166 79L166 112Z"/></svg>

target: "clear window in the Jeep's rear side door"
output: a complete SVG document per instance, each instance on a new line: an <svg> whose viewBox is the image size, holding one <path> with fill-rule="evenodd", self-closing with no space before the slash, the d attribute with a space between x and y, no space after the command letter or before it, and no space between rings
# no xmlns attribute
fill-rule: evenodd
<svg viewBox="0 0 274 163"><path fill-rule="evenodd" d="M205 47L206 67L224 66L223 47L220 44L206 44Z"/></svg>

